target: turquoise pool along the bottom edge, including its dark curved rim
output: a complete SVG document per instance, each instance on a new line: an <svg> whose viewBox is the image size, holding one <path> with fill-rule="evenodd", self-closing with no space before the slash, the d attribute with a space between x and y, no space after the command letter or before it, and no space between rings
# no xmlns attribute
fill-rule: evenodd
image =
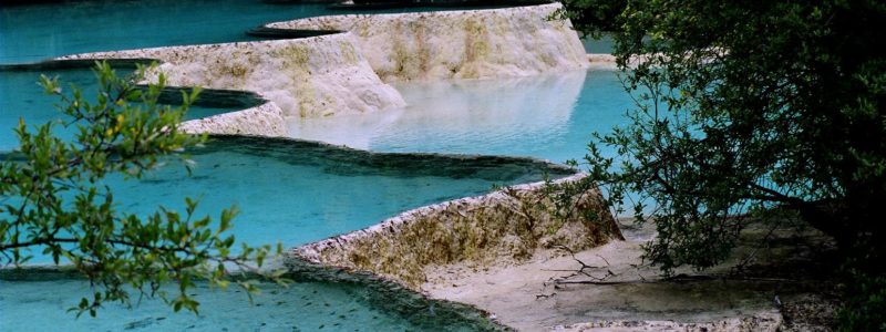
<svg viewBox="0 0 886 332"><path fill-rule="evenodd" d="M158 299L134 299L133 307L106 303L93 319L75 319L68 308L89 295L76 274L29 269L0 270L0 322L10 331L495 331L506 330L473 307L430 300L396 283L363 273L323 270L287 276L288 287L259 282L249 301L230 287L197 282L190 295L200 313L174 313ZM18 274L16 274L18 273ZM21 277L21 278L19 278ZM251 278L251 277L250 277ZM174 295L176 290L164 288ZM39 319L38 319L39 317ZM10 319L17 318L17 319Z"/></svg>

